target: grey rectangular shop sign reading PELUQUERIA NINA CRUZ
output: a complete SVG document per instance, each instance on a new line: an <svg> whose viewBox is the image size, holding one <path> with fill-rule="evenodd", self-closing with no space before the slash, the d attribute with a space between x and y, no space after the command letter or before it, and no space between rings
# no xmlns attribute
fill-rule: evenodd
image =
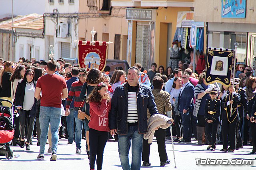
<svg viewBox="0 0 256 170"><path fill-rule="evenodd" d="M126 8L126 19L152 21L153 12L151 9Z"/></svg>

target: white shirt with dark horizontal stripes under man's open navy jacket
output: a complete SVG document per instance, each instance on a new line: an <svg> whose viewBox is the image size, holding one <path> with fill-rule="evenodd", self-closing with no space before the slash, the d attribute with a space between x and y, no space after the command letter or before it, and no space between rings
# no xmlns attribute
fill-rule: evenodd
<svg viewBox="0 0 256 170"><path fill-rule="evenodd" d="M128 123L138 122L136 92L128 92Z"/></svg>

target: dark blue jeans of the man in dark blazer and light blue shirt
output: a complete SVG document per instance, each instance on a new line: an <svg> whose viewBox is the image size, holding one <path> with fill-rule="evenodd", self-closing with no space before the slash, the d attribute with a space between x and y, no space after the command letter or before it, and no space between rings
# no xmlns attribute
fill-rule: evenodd
<svg viewBox="0 0 256 170"><path fill-rule="evenodd" d="M192 137L191 113L190 111L188 111L185 114L183 114L183 112L180 112L180 115L182 117L183 138L186 142L191 142L191 137Z"/></svg>

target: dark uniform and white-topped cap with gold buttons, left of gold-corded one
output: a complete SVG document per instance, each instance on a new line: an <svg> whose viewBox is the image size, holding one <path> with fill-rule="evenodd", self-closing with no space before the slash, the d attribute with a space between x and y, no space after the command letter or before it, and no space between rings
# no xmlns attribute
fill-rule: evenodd
<svg viewBox="0 0 256 170"><path fill-rule="evenodd" d="M218 88L211 88L210 93L217 93ZM204 119L206 121L206 137L209 140L209 145L212 149L216 148L216 136L218 129L218 117L220 116L220 99L207 99L204 109ZM208 123L208 120L212 120L212 123Z"/></svg>

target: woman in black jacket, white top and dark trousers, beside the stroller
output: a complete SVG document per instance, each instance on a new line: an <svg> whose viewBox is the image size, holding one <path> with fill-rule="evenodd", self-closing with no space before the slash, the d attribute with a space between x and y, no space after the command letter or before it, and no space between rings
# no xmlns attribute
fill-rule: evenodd
<svg viewBox="0 0 256 170"><path fill-rule="evenodd" d="M14 104L20 110L20 147L24 148L25 142L25 127L26 120L28 119L27 126L27 141L26 150L30 150L30 139L32 137L35 116L36 116L36 103L37 99L34 96L36 91L36 81L34 80L35 72L32 69L27 69L24 79L18 83Z"/></svg>

